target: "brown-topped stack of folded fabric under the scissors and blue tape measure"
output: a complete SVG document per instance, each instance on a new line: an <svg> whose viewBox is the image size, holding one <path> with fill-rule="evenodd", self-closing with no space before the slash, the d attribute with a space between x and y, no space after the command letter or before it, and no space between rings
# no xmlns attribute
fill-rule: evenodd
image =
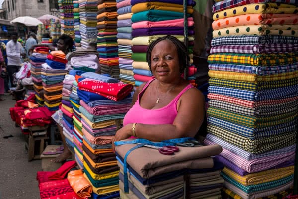
<svg viewBox="0 0 298 199"><path fill-rule="evenodd" d="M224 166L210 157L222 151L220 145L179 147L175 155L133 147L116 146L121 199L221 198Z"/></svg>

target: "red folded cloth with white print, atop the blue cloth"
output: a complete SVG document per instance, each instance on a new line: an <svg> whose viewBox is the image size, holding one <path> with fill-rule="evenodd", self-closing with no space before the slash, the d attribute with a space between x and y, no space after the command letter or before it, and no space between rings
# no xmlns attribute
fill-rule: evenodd
<svg viewBox="0 0 298 199"><path fill-rule="evenodd" d="M132 90L133 85L124 83L106 83L86 79L78 83L79 89L99 94L108 99L119 101L124 99Z"/></svg>

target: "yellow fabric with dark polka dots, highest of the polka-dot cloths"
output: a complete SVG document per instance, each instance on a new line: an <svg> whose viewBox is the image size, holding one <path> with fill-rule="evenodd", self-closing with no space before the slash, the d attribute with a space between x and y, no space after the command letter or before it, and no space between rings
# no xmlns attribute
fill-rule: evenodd
<svg viewBox="0 0 298 199"><path fill-rule="evenodd" d="M231 9L226 9L213 14L213 20L223 19L243 14L298 14L298 7L295 5L265 3L249 4Z"/></svg>

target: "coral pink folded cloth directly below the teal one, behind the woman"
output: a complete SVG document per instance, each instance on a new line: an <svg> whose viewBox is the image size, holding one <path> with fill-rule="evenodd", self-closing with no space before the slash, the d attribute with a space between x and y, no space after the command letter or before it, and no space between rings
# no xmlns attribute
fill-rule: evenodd
<svg viewBox="0 0 298 199"><path fill-rule="evenodd" d="M187 18L188 26L193 26L194 21L192 17ZM184 27L183 19L174 19L174 20L166 20L166 21L140 21L132 24L133 29L138 28L153 28L153 27Z"/></svg>

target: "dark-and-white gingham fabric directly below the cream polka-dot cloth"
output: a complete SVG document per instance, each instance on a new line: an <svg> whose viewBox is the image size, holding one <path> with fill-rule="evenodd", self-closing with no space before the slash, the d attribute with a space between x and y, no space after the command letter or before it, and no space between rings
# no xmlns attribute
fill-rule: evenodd
<svg viewBox="0 0 298 199"><path fill-rule="evenodd" d="M279 35L231 35L217 37L211 40L211 46L254 44L298 44L298 37Z"/></svg>

